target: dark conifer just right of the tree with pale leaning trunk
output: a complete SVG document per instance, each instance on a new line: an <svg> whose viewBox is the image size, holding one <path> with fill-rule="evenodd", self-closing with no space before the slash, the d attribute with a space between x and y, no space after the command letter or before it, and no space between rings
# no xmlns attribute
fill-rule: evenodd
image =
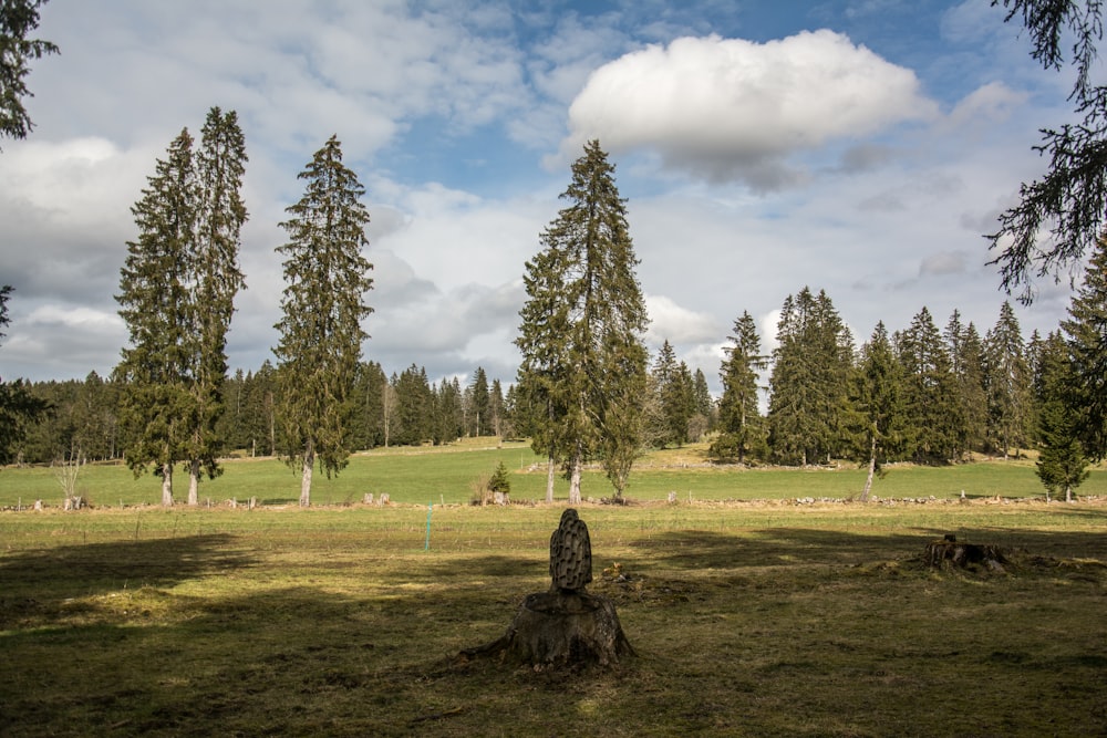
<svg viewBox="0 0 1107 738"><path fill-rule="evenodd" d="M896 335L894 344L903 370L904 448L918 462L946 462L956 445L953 375L945 343L925 306Z"/></svg>

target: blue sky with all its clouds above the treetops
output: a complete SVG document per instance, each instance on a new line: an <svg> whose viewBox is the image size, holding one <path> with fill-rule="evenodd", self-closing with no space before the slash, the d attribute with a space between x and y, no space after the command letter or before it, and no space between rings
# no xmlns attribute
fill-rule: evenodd
<svg viewBox="0 0 1107 738"><path fill-rule="evenodd" d="M982 233L1043 170L1037 131L1070 115L1067 73L1020 30L989 0L51 0L37 128L0 142L0 375L111 372L130 208L214 105L250 156L234 367L271 358L277 222L331 134L366 187L364 353L390 373L511 381L524 263L590 138L629 200L651 349L716 389L734 320L770 346L805 285L858 343L923 306L983 334L1006 295ZM1068 299L1039 284L1024 335Z"/></svg>

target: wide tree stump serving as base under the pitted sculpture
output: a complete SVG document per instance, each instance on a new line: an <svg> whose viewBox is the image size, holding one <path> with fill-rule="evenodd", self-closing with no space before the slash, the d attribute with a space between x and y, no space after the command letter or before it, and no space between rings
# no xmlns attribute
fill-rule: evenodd
<svg viewBox="0 0 1107 738"><path fill-rule="evenodd" d="M501 637L462 652L466 658L552 667L613 666L633 655L611 600L578 592L528 594Z"/></svg>

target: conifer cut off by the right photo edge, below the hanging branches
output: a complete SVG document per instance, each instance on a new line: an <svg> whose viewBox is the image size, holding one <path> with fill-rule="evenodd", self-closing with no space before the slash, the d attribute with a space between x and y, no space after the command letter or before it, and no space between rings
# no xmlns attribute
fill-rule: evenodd
<svg viewBox="0 0 1107 738"><path fill-rule="evenodd" d="M1107 457L1107 237L1097 242L1061 326L1073 362L1076 433L1085 454L1100 460Z"/></svg>

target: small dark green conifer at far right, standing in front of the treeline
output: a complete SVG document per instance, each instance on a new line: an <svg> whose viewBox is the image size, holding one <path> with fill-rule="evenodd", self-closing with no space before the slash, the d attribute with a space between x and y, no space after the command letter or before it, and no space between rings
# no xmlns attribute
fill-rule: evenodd
<svg viewBox="0 0 1107 738"><path fill-rule="evenodd" d="M1088 478L1077 430L1079 415L1070 407L1073 367L1065 340L1061 333L1051 333L1043 345L1036 386L1041 450L1035 466L1047 493L1064 491L1066 502L1073 501L1073 489Z"/></svg>

